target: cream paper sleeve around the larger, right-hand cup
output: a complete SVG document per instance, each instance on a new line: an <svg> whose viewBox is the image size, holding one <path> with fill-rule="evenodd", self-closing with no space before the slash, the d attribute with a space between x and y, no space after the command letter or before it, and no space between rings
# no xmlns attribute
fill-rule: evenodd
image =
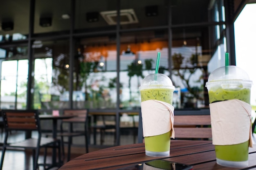
<svg viewBox="0 0 256 170"><path fill-rule="evenodd" d="M252 107L241 100L225 100L210 105L214 145L241 144L252 147Z"/></svg>

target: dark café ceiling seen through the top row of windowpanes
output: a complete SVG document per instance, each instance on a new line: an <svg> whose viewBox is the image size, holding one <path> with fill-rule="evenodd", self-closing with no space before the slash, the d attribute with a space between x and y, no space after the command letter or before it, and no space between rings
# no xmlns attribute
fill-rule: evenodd
<svg viewBox="0 0 256 170"><path fill-rule="evenodd" d="M172 0L171 1L171 22L173 26L173 38L200 35L201 28L197 28L198 23L207 23L209 21L209 7L218 0ZM69 31L70 19L63 19L63 14L71 13L71 0L35 0L34 15L34 33L50 33ZM235 11L241 9L245 3L244 0L234 0ZM117 8L117 0L76 0L75 5L75 30L94 31L97 28L111 29L115 26L109 25L99 14L97 22L88 22L87 13L102 11L113 11ZM13 22L12 31L3 31L0 28L0 35L20 33L27 35L29 33L29 0L1 0L0 5L0 24ZM148 17L146 8L157 6L157 15ZM152 26L168 25L168 0L121 0L121 9L133 9L138 22L133 24L122 24L121 29L137 29ZM237 10L239 11L239 10ZM39 24L40 18L52 18L51 26L42 27ZM195 24L181 28L184 24ZM207 27L207 26L206 26Z"/></svg>

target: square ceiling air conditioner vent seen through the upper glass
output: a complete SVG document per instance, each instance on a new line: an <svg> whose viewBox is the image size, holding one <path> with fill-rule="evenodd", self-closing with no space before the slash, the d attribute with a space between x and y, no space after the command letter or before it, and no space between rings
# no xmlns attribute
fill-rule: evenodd
<svg viewBox="0 0 256 170"><path fill-rule="evenodd" d="M117 24L117 11L102 11L100 14L109 25ZM120 10L120 24L134 24L138 22L133 9Z"/></svg>

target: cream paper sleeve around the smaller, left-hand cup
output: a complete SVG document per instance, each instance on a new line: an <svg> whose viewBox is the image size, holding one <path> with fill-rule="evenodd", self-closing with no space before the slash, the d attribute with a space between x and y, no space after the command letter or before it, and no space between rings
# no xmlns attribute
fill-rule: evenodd
<svg viewBox="0 0 256 170"><path fill-rule="evenodd" d="M146 100L141 102L141 116L143 136L162 135L171 131L174 138L174 107L159 100Z"/></svg>

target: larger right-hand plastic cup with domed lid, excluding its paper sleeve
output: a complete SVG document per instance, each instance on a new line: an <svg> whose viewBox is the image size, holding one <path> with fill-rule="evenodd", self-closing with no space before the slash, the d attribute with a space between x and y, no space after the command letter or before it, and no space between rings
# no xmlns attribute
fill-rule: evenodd
<svg viewBox="0 0 256 170"><path fill-rule="evenodd" d="M210 103L238 99L250 104L251 86L252 81L249 81L247 73L236 66L214 70L206 83ZM249 141L234 145L215 145L217 163L228 167L246 167L248 166L248 148Z"/></svg>

